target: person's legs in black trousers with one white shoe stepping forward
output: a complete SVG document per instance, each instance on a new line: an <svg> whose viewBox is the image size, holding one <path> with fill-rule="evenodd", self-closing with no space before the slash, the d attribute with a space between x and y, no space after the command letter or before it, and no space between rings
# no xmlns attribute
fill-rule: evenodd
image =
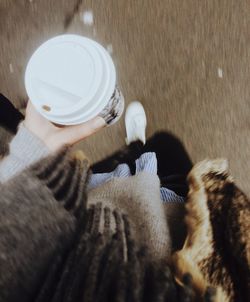
<svg viewBox="0 0 250 302"><path fill-rule="evenodd" d="M138 137L138 139L135 141L131 139L127 147L124 147L122 150L93 165L93 172L111 172L119 164L126 163L129 165L132 174L134 174L135 160L145 152L155 152L161 185L173 190L181 196L186 196L188 191L186 176L192 168L192 162L182 143L172 134L162 131L156 133L143 145L143 135L140 134L142 133L141 125L143 123L141 121L143 121L143 113L140 115L138 108L136 109L136 114L132 115L132 118L127 118L126 115L126 129L128 134L128 129L131 131L131 129L136 128L137 123L133 120L137 120L138 117L140 121L139 131L134 131L134 133L127 135L127 138L136 139ZM131 127L130 125L130 127L128 127L128 122L133 123L135 126Z"/></svg>

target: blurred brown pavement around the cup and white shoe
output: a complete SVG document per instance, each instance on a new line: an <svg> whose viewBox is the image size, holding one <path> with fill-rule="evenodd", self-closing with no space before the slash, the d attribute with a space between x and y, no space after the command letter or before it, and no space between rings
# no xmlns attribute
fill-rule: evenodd
<svg viewBox="0 0 250 302"><path fill-rule="evenodd" d="M93 12L93 24L82 14ZM92 23L91 18L85 23ZM22 106L33 51L62 33L111 45L126 103L139 99L148 135L166 129L194 162L226 157L250 193L248 0L0 0L0 90ZM124 123L85 140L95 161L124 143Z"/></svg>

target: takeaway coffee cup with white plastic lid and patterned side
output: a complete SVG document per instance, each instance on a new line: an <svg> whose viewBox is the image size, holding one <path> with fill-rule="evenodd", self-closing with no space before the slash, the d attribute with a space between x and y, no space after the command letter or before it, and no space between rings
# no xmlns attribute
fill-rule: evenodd
<svg viewBox="0 0 250 302"><path fill-rule="evenodd" d="M78 35L42 44L27 65L25 87L35 108L56 124L80 124L97 115L113 124L124 110L109 53Z"/></svg>

